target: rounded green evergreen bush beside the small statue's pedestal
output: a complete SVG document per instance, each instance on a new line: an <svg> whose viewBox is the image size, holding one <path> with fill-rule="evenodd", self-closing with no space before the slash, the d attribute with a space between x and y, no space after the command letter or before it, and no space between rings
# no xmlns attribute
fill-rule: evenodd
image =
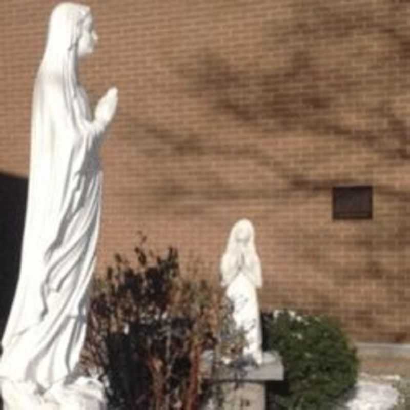
<svg viewBox="0 0 410 410"><path fill-rule="evenodd" d="M265 350L280 353L285 388L270 394L272 406L286 410L333 410L352 388L358 358L339 324L325 316L290 311L263 313Z"/></svg>

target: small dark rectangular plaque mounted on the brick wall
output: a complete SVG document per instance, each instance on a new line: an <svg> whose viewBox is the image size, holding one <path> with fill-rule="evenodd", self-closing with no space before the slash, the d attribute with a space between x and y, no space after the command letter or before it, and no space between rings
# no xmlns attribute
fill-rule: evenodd
<svg viewBox="0 0 410 410"><path fill-rule="evenodd" d="M373 187L333 187L333 219L372 219Z"/></svg>

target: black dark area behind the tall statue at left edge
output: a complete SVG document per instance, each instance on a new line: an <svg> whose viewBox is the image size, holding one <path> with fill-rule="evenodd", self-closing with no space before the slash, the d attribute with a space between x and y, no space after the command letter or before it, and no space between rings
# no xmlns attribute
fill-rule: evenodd
<svg viewBox="0 0 410 410"><path fill-rule="evenodd" d="M0 173L0 337L17 283L27 185L27 178Z"/></svg>

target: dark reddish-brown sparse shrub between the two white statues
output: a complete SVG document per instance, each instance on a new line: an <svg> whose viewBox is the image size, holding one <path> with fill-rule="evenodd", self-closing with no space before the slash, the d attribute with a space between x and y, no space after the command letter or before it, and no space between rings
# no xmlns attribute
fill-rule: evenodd
<svg viewBox="0 0 410 410"><path fill-rule="evenodd" d="M243 337L220 288L181 275L175 249L156 256L144 241L134 266L116 255L97 276L82 365L104 383L110 408L196 410L212 391L203 352L235 357Z"/></svg>

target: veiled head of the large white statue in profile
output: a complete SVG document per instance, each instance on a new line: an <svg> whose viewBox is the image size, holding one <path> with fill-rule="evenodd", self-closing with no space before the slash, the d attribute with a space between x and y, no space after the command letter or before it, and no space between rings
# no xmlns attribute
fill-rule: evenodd
<svg viewBox="0 0 410 410"><path fill-rule="evenodd" d="M78 57L91 54L97 42L93 17L88 6L64 2L50 17L47 49L57 57L75 50Z"/></svg>

